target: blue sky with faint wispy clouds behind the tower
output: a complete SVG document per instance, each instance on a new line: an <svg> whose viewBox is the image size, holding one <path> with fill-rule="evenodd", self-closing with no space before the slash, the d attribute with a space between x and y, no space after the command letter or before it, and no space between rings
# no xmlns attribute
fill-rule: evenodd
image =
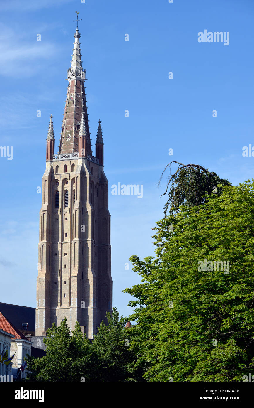
<svg viewBox="0 0 254 408"><path fill-rule="evenodd" d="M122 290L140 277L125 263L154 252L165 166L201 164L234 185L253 177L254 157L243 157L242 148L254 146L254 2L10 0L0 10L0 145L13 146L13 160L0 157L0 301L36 306L37 186L50 113L60 137L79 11L92 144L99 119L105 143L113 304L128 315L130 297ZM199 43L205 29L229 32L230 44ZM143 198L111 195L118 182L143 184Z"/></svg>

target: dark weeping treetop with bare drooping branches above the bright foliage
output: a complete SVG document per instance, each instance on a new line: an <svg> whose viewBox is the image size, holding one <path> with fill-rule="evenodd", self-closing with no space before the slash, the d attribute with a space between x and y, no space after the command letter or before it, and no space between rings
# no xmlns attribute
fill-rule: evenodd
<svg viewBox="0 0 254 408"><path fill-rule="evenodd" d="M177 171L171 175L171 164L177 163ZM188 207L204 204L206 201L205 195L208 193L215 193L220 195L222 193L222 186L230 185L226 179L221 179L216 173L208 171L199 164L182 164L179 162L170 162L164 169L160 181L167 167L170 168L169 180L166 191L162 195L166 195L169 184L169 198L164 206L164 213L166 215L168 208L172 213L179 211L181 205ZM158 185L160 185L160 181Z"/></svg>

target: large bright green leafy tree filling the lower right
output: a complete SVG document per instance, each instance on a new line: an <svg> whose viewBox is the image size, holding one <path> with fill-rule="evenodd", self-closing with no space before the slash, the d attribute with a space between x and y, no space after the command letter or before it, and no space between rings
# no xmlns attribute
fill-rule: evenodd
<svg viewBox="0 0 254 408"><path fill-rule="evenodd" d="M124 290L138 306L130 348L148 381L243 381L254 369L254 181L219 188L157 223L155 257L130 259L142 277Z"/></svg>

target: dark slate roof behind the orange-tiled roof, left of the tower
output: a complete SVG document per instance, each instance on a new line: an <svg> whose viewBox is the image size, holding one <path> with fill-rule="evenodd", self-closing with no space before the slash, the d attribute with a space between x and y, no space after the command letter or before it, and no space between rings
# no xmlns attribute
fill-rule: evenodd
<svg viewBox="0 0 254 408"><path fill-rule="evenodd" d="M22 323L28 323L28 330L35 332L35 308L0 302L0 312L18 330L24 330Z"/></svg>

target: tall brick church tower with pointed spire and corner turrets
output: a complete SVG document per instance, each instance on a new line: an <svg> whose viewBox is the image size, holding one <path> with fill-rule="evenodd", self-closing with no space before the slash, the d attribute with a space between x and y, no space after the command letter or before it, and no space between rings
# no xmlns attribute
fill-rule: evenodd
<svg viewBox="0 0 254 408"><path fill-rule="evenodd" d="M74 33L59 151L53 116L46 140L39 223L36 336L66 317L93 338L112 311L108 182L103 170L101 120L92 152L80 33Z"/></svg>

